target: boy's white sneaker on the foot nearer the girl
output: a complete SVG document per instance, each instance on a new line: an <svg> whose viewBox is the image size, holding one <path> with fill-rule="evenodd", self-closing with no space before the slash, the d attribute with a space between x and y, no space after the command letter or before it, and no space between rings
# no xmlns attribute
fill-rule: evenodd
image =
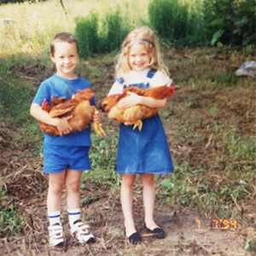
<svg viewBox="0 0 256 256"><path fill-rule="evenodd" d="M84 224L81 219L78 219L70 227L70 233L73 237L77 238L80 243L94 242L95 238L88 230L89 228L89 225Z"/></svg>

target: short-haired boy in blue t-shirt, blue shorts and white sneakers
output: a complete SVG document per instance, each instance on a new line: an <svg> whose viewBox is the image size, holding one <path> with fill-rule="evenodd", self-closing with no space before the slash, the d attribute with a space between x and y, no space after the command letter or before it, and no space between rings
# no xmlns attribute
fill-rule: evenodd
<svg viewBox="0 0 256 256"><path fill-rule="evenodd" d="M94 236L88 230L89 226L80 220L79 181L82 171L90 170L89 149L90 128L70 133L72 128L65 118L50 118L49 113L41 108L46 99L51 102L51 96L72 98L79 90L91 87L90 83L77 77L74 73L79 61L79 44L77 39L68 32L57 34L51 43L51 60L55 63L56 73L44 80L38 89L32 106L31 115L35 119L55 125L61 136L44 135L44 172L49 173L49 190L47 208L49 217L49 244L60 245L63 242L61 227L61 192L67 189L67 212L71 235L79 242L94 241ZM95 105L95 99L92 103ZM99 112L92 117L96 123L101 122Z"/></svg>

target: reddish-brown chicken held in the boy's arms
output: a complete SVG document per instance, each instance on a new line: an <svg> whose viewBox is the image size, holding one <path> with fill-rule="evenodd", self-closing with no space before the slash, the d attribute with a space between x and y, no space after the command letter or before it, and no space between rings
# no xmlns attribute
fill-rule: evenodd
<svg viewBox="0 0 256 256"><path fill-rule="evenodd" d="M90 101L94 96L94 92L91 88L87 88L79 91L73 99L62 102L63 97L56 98L52 96L52 102L46 102L44 100L42 109L49 113L52 118L55 117L67 117L73 115L68 120L69 125L72 127L72 132L82 131L88 127L92 119L93 113L97 111L95 106L90 105ZM53 125L46 125L40 122L40 128L44 133L51 136L59 136L60 133L57 127ZM105 132L102 129L102 124L93 123L93 128L99 136L105 136Z"/></svg>

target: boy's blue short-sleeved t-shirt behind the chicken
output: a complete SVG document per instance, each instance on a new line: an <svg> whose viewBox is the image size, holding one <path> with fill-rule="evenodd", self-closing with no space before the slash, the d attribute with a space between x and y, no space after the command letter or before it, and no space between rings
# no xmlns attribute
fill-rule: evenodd
<svg viewBox="0 0 256 256"><path fill-rule="evenodd" d="M51 102L51 96L61 97L65 96L65 100L69 100L72 96L79 92L79 90L84 90L85 88L91 88L91 84L85 79L63 79L56 74L54 74L49 79L44 80L40 85L37 95L35 96L33 103L42 105L44 99L47 102ZM95 105L95 98L93 97L92 102ZM90 141L90 127L84 129L83 131L78 131L75 133L69 133L65 136L49 136L44 134L44 144L54 144L62 146L91 146Z"/></svg>

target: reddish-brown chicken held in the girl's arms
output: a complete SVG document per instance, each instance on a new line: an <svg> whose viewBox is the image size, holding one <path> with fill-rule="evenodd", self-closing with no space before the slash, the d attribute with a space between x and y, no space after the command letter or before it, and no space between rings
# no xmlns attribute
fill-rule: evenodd
<svg viewBox="0 0 256 256"><path fill-rule="evenodd" d="M138 127L139 131L143 128L142 119L148 119L157 114L158 108L149 108L143 105L132 106L130 108L120 108L118 102L126 96L130 96L131 93L135 93L139 96L152 97L155 100L162 100L169 98L174 93L173 87L166 85L154 87L154 88L138 88L128 87L125 88L123 94L116 94L107 96L100 104L100 109L103 112L108 113L109 119L114 119L122 123L131 122L134 123L133 129Z"/></svg>

